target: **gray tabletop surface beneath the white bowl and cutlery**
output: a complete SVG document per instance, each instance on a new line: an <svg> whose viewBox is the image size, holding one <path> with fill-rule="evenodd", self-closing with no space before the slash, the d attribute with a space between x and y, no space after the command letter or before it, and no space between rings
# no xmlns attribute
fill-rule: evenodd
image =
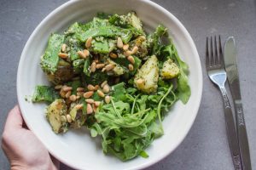
<svg viewBox="0 0 256 170"><path fill-rule="evenodd" d="M17 103L16 72L20 53L39 22L67 0L0 0L0 133L8 111ZM233 169L218 89L205 71L207 36L234 36L238 46L241 95L253 169L256 169L256 1L154 0L176 15L188 29L201 56L204 88L194 126L172 155L147 170ZM9 162L0 151L0 169ZM70 169L61 165L61 169Z"/></svg>

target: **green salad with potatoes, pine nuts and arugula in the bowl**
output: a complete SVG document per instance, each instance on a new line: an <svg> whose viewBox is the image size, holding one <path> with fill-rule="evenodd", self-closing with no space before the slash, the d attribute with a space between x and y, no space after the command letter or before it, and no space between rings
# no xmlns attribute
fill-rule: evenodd
<svg viewBox="0 0 256 170"><path fill-rule="evenodd" d="M167 111L190 96L188 65L166 27L148 34L135 12L97 14L52 33L40 65L51 86L38 85L32 102L48 104L54 133L87 127L122 161L148 157Z"/></svg>

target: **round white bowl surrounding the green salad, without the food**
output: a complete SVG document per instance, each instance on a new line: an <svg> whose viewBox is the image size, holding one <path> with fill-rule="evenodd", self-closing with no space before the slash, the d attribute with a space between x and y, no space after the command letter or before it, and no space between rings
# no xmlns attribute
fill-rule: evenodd
<svg viewBox="0 0 256 170"><path fill-rule="evenodd" d="M100 144L90 138L86 129L56 135L45 119L46 105L32 104L26 102L25 98L33 93L36 85L49 84L39 61L51 32L62 32L75 21L91 20L97 12L125 14L131 10L136 11L143 20L146 31L153 31L159 24L169 29L178 54L189 65L189 85L192 93L187 105L177 102L166 116L163 122L165 134L148 147L147 159L138 156L131 161L122 162L114 156L105 156ZM49 152L63 163L78 169L141 169L169 155L189 133L201 102L201 62L189 32L175 16L156 3L148 0L73 0L50 13L26 42L20 57L17 93L27 126Z"/></svg>

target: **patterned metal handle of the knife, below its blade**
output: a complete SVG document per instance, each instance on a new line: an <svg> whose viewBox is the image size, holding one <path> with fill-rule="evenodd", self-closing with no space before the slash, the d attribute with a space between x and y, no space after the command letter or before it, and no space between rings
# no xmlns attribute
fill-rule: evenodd
<svg viewBox="0 0 256 170"><path fill-rule="evenodd" d="M236 111L236 130L237 137L239 140L239 148L241 152L242 167L244 170L252 170L249 144L247 138L247 128L244 121L241 100L236 100L234 103Z"/></svg>

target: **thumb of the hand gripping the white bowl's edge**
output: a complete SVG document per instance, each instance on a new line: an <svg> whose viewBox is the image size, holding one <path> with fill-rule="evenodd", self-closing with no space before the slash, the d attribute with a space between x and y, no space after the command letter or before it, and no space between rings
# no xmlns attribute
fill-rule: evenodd
<svg viewBox="0 0 256 170"><path fill-rule="evenodd" d="M15 130L17 128L22 128L23 118L20 114L20 108L18 105L15 106L11 111L9 111L9 115L7 116L5 122L5 130Z"/></svg>

